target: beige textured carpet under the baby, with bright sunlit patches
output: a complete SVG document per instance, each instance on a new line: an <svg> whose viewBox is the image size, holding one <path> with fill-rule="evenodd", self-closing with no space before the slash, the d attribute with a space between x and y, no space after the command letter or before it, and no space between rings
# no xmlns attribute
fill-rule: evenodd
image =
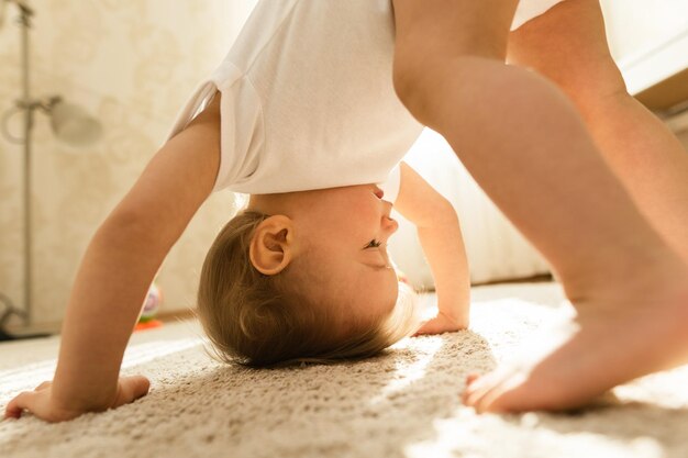
<svg viewBox="0 0 688 458"><path fill-rule="evenodd" d="M123 372L152 379L146 398L57 425L2 422L0 457L688 457L688 367L575 414L464 407L466 375L508 358L562 310L550 283L477 288L474 302L470 332L334 366L220 366L192 322L137 333ZM57 344L0 345L0 406L52 377Z"/></svg>

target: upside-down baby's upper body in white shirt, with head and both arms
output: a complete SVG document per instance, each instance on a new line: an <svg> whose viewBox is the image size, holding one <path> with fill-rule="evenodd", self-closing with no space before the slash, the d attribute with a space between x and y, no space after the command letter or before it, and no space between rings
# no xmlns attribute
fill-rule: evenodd
<svg viewBox="0 0 688 458"><path fill-rule="evenodd" d="M456 213L408 166L395 169L422 125L395 93L393 27L389 1L258 2L93 236L54 382L16 396L7 416L64 421L147 393L147 379L119 377L124 348L164 258L222 189L251 201L201 275L198 314L220 359L365 356L413 331L467 325ZM441 298L420 328L387 255L392 200L418 226Z"/></svg>

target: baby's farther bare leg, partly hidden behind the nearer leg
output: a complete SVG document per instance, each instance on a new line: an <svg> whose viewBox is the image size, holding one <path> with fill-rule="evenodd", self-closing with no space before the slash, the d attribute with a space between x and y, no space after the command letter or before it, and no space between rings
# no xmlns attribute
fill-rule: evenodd
<svg viewBox="0 0 688 458"><path fill-rule="evenodd" d="M556 82L641 212L688 260L688 154L629 96L609 53L598 0L565 1L509 40L509 60Z"/></svg>

